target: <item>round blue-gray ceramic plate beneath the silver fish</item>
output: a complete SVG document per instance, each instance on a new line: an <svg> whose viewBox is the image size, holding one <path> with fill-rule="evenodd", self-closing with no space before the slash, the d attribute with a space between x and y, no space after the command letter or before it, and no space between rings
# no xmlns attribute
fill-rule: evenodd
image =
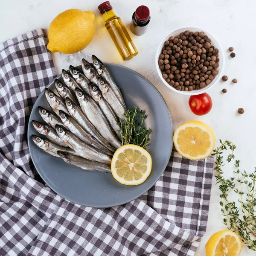
<svg viewBox="0 0 256 256"><path fill-rule="evenodd" d="M50 110L44 93L41 93L35 102L28 126L31 158L45 183L67 200L97 208L125 204L143 195L162 175L172 152L172 119L157 89L133 70L116 64L106 64L106 67L121 87L127 107L133 108L136 105L148 114L145 126L153 130L150 135L150 145L147 147L152 157L152 170L144 183L137 186L122 185L111 174L85 171L38 148L31 138L32 134L37 134L31 121L42 121L38 106ZM61 76L57 78L62 80ZM55 91L54 81L47 87Z"/></svg>

